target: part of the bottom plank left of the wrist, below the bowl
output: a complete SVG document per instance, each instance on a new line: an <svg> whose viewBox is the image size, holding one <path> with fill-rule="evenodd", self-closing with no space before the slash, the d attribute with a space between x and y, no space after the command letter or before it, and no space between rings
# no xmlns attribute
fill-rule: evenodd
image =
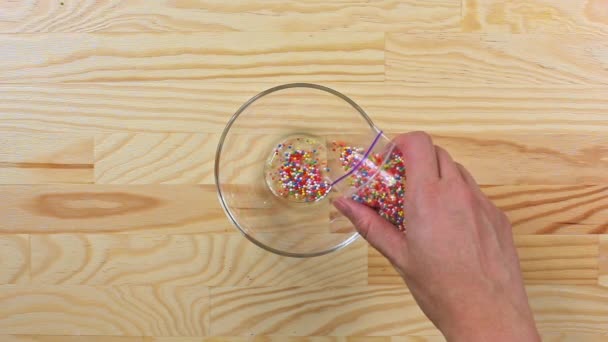
<svg viewBox="0 0 608 342"><path fill-rule="evenodd" d="M211 289L211 335L438 335L403 286Z"/></svg>

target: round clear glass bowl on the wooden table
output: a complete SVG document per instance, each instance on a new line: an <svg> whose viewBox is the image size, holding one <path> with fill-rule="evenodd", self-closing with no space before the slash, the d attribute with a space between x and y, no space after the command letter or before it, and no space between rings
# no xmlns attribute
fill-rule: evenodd
<svg viewBox="0 0 608 342"><path fill-rule="evenodd" d="M359 235L331 204L348 188L332 184L345 174L335 165L332 144L369 147L380 136L386 145L363 109L336 90L309 83L265 90L237 110L220 137L215 159L220 203L249 240L270 252L311 257L345 247ZM281 158L304 150L314 151L311 165L322 186L290 193L284 184L287 157Z"/></svg>

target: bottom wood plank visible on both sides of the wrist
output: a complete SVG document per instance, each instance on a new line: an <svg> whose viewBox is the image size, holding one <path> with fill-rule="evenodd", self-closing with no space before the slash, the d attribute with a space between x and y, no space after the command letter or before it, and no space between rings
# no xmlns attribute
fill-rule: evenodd
<svg viewBox="0 0 608 342"><path fill-rule="evenodd" d="M530 285L541 332L606 334L608 291L585 285ZM214 288L214 335L439 335L403 286Z"/></svg>

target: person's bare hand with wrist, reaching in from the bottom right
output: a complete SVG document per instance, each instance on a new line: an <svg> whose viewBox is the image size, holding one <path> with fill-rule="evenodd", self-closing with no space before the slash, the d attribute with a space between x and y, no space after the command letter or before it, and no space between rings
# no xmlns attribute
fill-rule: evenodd
<svg viewBox="0 0 608 342"><path fill-rule="evenodd" d="M336 208L392 263L448 341L540 341L506 215L428 134L394 143L407 165L407 233L350 199Z"/></svg>

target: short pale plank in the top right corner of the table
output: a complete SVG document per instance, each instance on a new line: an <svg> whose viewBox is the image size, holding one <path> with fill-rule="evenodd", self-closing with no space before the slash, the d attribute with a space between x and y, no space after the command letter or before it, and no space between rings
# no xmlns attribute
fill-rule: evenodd
<svg viewBox="0 0 608 342"><path fill-rule="evenodd" d="M602 0L465 0L464 32L607 33Z"/></svg>

